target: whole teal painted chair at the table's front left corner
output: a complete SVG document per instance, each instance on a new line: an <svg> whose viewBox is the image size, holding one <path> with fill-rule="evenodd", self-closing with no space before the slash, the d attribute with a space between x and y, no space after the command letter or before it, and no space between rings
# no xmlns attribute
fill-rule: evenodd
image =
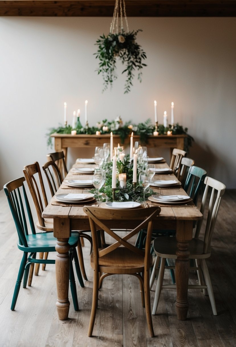
<svg viewBox="0 0 236 347"><path fill-rule="evenodd" d="M32 218L25 186L25 178L21 177L4 185L4 192L7 195L8 203L12 213L13 220L16 225L18 234L18 248L23 252L18 277L15 285L15 290L11 303L11 310L15 310L17 297L20 290L20 284L23 279L23 288L26 288L27 279L29 276L32 264L55 264L55 260L50 259L36 259L37 252L56 252L56 239L52 232L38 232L35 231L34 221ZM30 232L29 232L30 231ZM72 260L75 261L75 268L80 283L83 284L76 246L78 244L79 233L74 231L69 238L69 251L70 257L70 287L75 311L79 310L78 298L76 293L75 278L72 266ZM29 254L29 255L28 255ZM32 271L33 275L33 271ZM31 285L31 282L30 282Z"/></svg>

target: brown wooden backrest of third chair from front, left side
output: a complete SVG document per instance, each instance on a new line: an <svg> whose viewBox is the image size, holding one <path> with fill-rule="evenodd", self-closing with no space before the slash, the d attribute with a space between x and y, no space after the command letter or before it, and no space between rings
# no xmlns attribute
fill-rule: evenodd
<svg viewBox="0 0 236 347"><path fill-rule="evenodd" d="M50 188L50 192L53 195L56 194L56 191L62 184L62 176L61 173L57 167L57 165L54 163L54 161L47 161L44 166L43 170L45 172L45 175L47 177L48 186Z"/></svg>

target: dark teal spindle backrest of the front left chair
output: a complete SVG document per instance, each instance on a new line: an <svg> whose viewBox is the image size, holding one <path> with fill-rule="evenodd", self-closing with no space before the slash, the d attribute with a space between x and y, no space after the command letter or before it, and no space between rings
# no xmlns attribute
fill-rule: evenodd
<svg viewBox="0 0 236 347"><path fill-rule="evenodd" d="M17 178L6 183L3 189L7 195L12 217L16 225L19 244L27 247L25 235L28 235L28 227L30 226L31 233L35 234L35 226L24 187L24 181L25 177Z"/></svg>

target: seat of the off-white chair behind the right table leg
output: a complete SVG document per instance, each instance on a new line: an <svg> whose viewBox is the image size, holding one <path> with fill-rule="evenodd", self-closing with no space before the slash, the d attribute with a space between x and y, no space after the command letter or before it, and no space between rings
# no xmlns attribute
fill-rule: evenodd
<svg viewBox="0 0 236 347"><path fill-rule="evenodd" d="M177 259L177 242L175 237L158 237L153 243L155 253L167 259ZM204 243L202 240L192 239L189 242L189 259L205 259L210 257L210 252L203 254Z"/></svg>

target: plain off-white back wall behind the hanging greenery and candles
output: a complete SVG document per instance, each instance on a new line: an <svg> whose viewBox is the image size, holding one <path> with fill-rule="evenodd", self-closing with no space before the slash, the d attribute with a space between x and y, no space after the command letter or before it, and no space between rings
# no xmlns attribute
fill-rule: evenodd
<svg viewBox="0 0 236 347"><path fill-rule="evenodd" d="M101 93L93 55L111 18L0 18L0 186L22 175L24 165L46 161L45 134L88 99L90 125L120 115L136 123L164 110L195 139L188 156L208 174L236 188L236 18L128 18L142 28L137 42L147 53L143 82L123 94L119 73ZM119 65L119 64L118 64ZM121 67L118 66L118 71ZM81 153L69 151L69 164Z"/></svg>

